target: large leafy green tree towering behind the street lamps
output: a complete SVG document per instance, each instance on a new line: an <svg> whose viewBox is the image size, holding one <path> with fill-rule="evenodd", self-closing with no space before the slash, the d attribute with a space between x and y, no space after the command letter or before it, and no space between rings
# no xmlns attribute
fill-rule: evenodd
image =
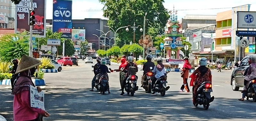
<svg viewBox="0 0 256 121"><path fill-rule="evenodd" d="M116 30L122 26L136 26L143 27L144 16L147 12L146 18L146 33L149 27L156 27L163 29L166 26L167 20L170 17L167 9L164 8L164 0L99 0L103 7L103 16L108 18L108 26ZM148 26L149 25L151 26ZM158 24L154 24L158 23ZM117 35L122 40L122 44L129 43L133 40L133 31L126 32L124 29L118 30ZM135 40L138 43L143 32L138 28L135 31ZM159 32L158 32L159 33Z"/></svg>

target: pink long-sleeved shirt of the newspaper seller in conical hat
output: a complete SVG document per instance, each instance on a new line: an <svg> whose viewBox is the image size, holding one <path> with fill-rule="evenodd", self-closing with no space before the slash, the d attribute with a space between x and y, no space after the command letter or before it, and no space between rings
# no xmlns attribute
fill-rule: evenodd
<svg viewBox="0 0 256 121"><path fill-rule="evenodd" d="M30 92L23 90L14 95L13 99L13 119L14 121L34 120L39 114L44 114L44 110L30 107Z"/></svg>

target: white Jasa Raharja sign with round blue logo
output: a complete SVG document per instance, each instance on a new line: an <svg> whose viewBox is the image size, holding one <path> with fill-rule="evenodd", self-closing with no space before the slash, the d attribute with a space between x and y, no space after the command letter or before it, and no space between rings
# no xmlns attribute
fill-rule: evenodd
<svg viewBox="0 0 256 121"><path fill-rule="evenodd" d="M237 28L256 28L256 12L237 11Z"/></svg>

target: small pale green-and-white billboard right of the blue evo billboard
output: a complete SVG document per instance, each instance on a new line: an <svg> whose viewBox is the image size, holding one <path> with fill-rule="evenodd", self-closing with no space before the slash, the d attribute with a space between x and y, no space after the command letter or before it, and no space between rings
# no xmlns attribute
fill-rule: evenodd
<svg viewBox="0 0 256 121"><path fill-rule="evenodd" d="M72 29L72 41L85 41L85 29Z"/></svg>

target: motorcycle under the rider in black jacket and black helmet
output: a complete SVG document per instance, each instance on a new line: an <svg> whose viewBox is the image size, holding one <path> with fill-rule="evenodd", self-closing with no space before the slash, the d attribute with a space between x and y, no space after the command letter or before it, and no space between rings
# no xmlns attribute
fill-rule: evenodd
<svg viewBox="0 0 256 121"><path fill-rule="evenodd" d="M141 87L145 89L146 93L151 92L152 79L154 79L152 71L153 67L150 67L150 72L147 72L145 75L142 73L141 76Z"/></svg>

